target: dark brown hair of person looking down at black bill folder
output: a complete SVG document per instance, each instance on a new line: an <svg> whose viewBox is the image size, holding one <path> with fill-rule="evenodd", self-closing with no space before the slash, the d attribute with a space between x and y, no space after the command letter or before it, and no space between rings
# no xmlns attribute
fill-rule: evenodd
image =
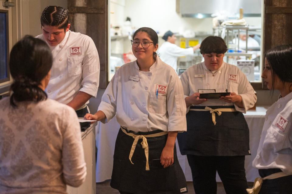
<svg viewBox="0 0 292 194"><path fill-rule="evenodd" d="M200 46L201 54L217 53L224 54L227 51L225 41L220 36L208 36Z"/></svg>

